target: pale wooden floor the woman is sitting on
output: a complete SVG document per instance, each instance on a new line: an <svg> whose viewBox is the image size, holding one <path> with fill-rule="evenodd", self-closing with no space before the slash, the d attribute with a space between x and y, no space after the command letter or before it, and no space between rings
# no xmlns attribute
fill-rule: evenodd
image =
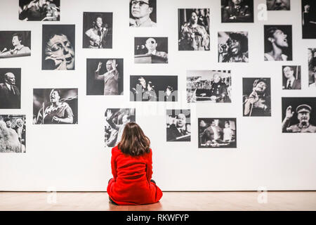
<svg viewBox="0 0 316 225"><path fill-rule="evenodd" d="M0 192L0 210L316 210L316 191L269 191L267 203L258 192L164 192L152 205L112 205L103 192ZM264 198L259 199L263 200Z"/></svg>

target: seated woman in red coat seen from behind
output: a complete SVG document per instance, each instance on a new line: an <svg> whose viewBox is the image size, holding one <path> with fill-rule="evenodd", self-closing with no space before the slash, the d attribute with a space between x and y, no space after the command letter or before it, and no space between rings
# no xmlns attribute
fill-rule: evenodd
<svg viewBox="0 0 316 225"><path fill-rule="evenodd" d="M150 139L135 122L126 124L121 141L112 148L113 178L107 194L118 205L157 203L162 190L152 178Z"/></svg>

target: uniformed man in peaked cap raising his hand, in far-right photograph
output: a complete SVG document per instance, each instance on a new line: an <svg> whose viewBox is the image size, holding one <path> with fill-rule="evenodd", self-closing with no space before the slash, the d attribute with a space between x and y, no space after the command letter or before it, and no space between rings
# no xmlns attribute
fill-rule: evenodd
<svg viewBox="0 0 316 225"><path fill-rule="evenodd" d="M296 108L298 124L290 125L291 118L294 115L292 106L287 107L285 118L282 122L282 131L285 133L316 133L316 126L310 124L310 112L312 108L310 105L298 105Z"/></svg>

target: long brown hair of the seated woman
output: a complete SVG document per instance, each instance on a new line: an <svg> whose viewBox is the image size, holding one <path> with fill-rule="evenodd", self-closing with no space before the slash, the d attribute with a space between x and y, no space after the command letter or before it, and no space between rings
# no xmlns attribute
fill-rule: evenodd
<svg viewBox="0 0 316 225"><path fill-rule="evenodd" d="M136 122L129 122L125 125L118 148L128 155L143 155L150 153L150 139L145 136Z"/></svg>

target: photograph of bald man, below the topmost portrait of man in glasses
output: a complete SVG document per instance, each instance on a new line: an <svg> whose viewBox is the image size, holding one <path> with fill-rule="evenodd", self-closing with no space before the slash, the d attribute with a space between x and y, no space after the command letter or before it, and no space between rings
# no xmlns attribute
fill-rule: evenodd
<svg viewBox="0 0 316 225"><path fill-rule="evenodd" d="M168 63L168 37L135 37L134 63Z"/></svg>

